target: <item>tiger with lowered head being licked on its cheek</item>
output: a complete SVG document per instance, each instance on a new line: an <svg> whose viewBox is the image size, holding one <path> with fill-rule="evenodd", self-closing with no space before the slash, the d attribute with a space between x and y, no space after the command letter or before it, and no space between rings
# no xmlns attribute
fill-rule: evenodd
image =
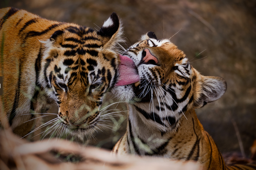
<svg viewBox="0 0 256 170"><path fill-rule="evenodd" d="M118 77L123 28L117 14L99 31L12 7L0 9L0 18L2 128L27 136L37 115L56 104L58 117L48 123L73 136L92 133Z"/></svg>

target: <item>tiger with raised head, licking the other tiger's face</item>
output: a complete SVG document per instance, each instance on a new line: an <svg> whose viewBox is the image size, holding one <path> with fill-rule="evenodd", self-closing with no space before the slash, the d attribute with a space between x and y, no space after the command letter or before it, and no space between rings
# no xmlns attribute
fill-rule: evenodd
<svg viewBox="0 0 256 170"><path fill-rule="evenodd" d="M255 163L226 166L195 113L225 93L223 78L201 75L183 51L168 39L158 40L154 32L120 57L123 66L112 93L128 103L128 125L113 147L114 155L193 160L206 170L256 169ZM131 70L129 76L122 73L125 67ZM125 77L131 80L125 82Z"/></svg>

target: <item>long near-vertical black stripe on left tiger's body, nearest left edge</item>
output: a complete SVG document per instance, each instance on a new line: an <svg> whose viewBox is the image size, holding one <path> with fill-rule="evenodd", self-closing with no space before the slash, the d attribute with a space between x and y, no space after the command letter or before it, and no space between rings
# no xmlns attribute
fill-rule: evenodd
<svg viewBox="0 0 256 170"><path fill-rule="evenodd" d="M20 64L19 64L19 78L18 78L18 85L17 85L17 89L16 89L16 93L15 93L15 99L14 99L14 103L13 103L13 106L12 106L12 111L11 111L11 114L10 114L10 117L9 117L9 125L12 126L12 121L13 119L15 118L16 116L16 109L19 105L19 98L20 98L20 83L21 83L21 73L22 73L22 62L19 61Z"/></svg>

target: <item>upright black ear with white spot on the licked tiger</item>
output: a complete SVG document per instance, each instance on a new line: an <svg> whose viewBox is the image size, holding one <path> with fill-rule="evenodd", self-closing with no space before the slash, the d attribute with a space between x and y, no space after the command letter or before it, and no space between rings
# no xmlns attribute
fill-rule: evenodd
<svg viewBox="0 0 256 170"><path fill-rule="evenodd" d="M108 20L104 22L102 28L97 32L97 34L102 37L104 48L115 48L117 42L123 41L122 33L122 24L115 12L111 14Z"/></svg>

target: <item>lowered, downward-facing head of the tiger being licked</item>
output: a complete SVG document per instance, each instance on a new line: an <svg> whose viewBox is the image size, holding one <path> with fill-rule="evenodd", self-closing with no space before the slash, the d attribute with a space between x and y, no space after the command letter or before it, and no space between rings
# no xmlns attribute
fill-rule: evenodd
<svg viewBox="0 0 256 170"><path fill-rule="evenodd" d="M57 102L61 125L70 132L84 134L99 121L102 100L118 77L121 34L113 13L98 32L69 24L41 41L40 84Z"/></svg>

